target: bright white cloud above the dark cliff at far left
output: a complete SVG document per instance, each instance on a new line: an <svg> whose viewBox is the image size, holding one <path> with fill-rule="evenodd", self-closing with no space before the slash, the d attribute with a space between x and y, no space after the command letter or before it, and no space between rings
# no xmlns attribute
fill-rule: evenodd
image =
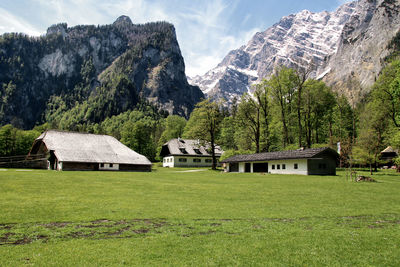
<svg viewBox="0 0 400 267"><path fill-rule="evenodd" d="M14 16L7 10L0 8L0 33L23 32L38 36L41 32L22 18Z"/></svg>

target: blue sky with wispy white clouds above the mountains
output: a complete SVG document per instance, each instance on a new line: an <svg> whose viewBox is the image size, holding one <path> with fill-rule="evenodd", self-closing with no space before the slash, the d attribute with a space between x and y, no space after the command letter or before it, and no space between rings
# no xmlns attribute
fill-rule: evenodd
<svg viewBox="0 0 400 267"><path fill-rule="evenodd" d="M283 16L308 9L333 11L348 0L2 0L0 34L40 35L59 22L111 24L165 20L175 25L186 74L204 74L232 49Z"/></svg>

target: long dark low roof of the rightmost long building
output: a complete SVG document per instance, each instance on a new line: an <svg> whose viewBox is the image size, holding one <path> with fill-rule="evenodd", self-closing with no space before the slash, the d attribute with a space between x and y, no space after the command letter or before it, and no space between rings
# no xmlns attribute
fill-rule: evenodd
<svg viewBox="0 0 400 267"><path fill-rule="evenodd" d="M265 152L265 153L257 153L250 155L236 155L221 161L221 163L269 161L269 160L283 160L283 159L308 159L308 158L318 157L318 155L324 152L329 153L334 157L339 156L335 150L329 147L322 147L322 148L307 148L307 149L277 151L277 152Z"/></svg>

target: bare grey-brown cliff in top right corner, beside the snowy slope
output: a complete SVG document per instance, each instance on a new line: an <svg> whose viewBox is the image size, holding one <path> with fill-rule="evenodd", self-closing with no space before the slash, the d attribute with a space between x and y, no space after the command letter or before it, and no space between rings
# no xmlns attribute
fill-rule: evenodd
<svg viewBox="0 0 400 267"><path fill-rule="evenodd" d="M400 1L362 0L343 27L338 51L321 68L323 79L354 102L368 93L400 32ZM321 76L321 77L322 77Z"/></svg>

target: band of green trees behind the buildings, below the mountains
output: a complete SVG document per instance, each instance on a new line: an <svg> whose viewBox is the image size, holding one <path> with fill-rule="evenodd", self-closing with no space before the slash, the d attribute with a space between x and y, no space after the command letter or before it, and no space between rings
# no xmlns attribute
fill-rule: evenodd
<svg viewBox="0 0 400 267"><path fill-rule="evenodd" d="M55 128L112 135L152 161L160 160L165 142L183 137L208 141L212 147L218 144L226 151L224 157L300 147L336 149L340 143L341 166L376 168L380 151L388 145L400 148L400 61L383 69L357 105L323 81L309 79L306 72L282 67L229 106L209 99L198 103L189 120L159 112L147 102L101 122L65 123L65 114L50 114L48 123L32 131L1 127L0 156L27 153L40 130ZM81 117L70 115L67 118Z"/></svg>

